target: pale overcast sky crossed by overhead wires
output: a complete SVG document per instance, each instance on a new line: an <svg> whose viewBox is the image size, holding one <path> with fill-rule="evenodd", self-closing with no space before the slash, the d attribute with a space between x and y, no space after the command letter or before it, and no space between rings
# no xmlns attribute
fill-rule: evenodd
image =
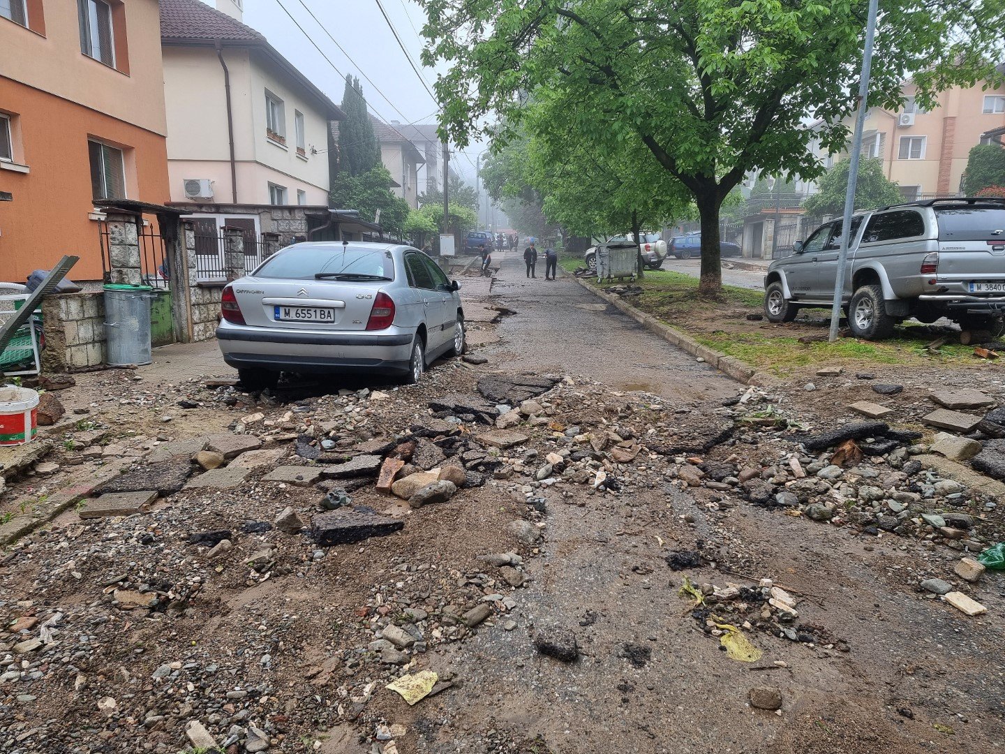
<svg viewBox="0 0 1005 754"><path fill-rule="evenodd" d="M215 6L215 0L204 2ZM423 68L419 58L423 46L419 31L425 22L424 13L412 0L380 2L431 89L436 74ZM299 22L304 31L296 28L283 7ZM244 22L264 34L273 47L336 104L342 102L345 74L352 73L359 76L371 112L381 120L436 123L436 103L405 59L377 0L244 0ZM325 29L345 52L329 38ZM305 31L341 75L305 37ZM454 158L454 168L468 183L474 183L473 163L483 149L481 144L471 144L463 155L457 154Z"/></svg>

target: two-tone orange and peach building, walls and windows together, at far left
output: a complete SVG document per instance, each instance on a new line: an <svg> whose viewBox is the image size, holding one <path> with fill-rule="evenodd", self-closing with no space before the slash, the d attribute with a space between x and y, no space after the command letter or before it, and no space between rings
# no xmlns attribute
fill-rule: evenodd
<svg viewBox="0 0 1005 754"><path fill-rule="evenodd" d="M166 133L157 0L0 0L0 280L100 279L93 202L169 201Z"/></svg>

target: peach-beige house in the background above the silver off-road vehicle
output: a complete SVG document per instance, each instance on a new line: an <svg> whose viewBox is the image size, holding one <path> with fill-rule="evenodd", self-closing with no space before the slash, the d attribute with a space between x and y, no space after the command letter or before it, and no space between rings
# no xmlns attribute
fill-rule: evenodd
<svg viewBox="0 0 1005 754"><path fill-rule="evenodd" d="M979 81L970 88L948 89L931 111L915 104L914 91L914 84L904 85L899 111L869 111L862 155L881 159L886 177L899 184L910 201L956 195L971 148L990 141L982 140L985 132L1005 126L1005 87L985 89ZM853 128L854 117L846 124ZM818 143L811 149L827 167L847 156L823 154ZM810 185L809 193L813 190Z"/></svg>

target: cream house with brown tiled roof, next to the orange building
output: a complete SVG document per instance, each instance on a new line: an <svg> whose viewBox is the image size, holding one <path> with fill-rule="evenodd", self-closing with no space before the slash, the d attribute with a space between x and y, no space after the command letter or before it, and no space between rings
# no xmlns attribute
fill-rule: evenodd
<svg viewBox="0 0 1005 754"><path fill-rule="evenodd" d="M216 6L160 3L172 201L327 206L342 112L241 23L240 0Z"/></svg>

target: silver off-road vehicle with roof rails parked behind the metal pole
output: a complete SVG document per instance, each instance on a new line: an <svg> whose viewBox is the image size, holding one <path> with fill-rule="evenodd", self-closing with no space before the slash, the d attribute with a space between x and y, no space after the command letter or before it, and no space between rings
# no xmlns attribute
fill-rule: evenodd
<svg viewBox="0 0 1005 754"><path fill-rule="evenodd" d="M841 225L821 225L768 267L771 322L832 306ZM1005 199L932 199L862 212L852 217L849 249L842 301L856 337L888 337L911 317L1005 330Z"/></svg>

